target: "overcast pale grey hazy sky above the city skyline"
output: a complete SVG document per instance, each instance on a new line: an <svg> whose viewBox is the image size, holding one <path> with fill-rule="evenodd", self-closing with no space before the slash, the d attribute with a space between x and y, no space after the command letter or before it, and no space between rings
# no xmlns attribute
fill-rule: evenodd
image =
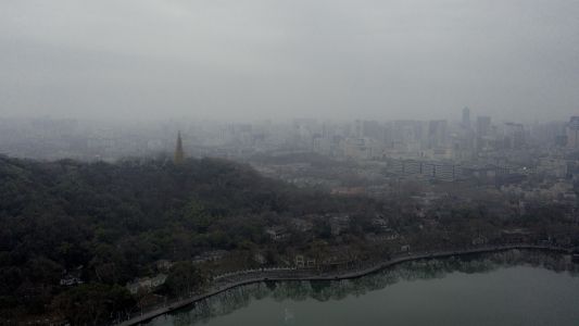
<svg viewBox="0 0 579 326"><path fill-rule="evenodd" d="M0 116L566 120L577 0L1 0Z"/></svg>

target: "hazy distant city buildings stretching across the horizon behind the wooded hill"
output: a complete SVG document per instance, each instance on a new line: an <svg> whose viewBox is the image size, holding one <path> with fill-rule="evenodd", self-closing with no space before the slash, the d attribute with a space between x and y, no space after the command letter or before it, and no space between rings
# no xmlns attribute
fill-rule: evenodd
<svg viewBox="0 0 579 326"><path fill-rule="evenodd" d="M572 178L579 170L575 151L579 151L579 116L571 116L567 122L525 125L495 122L486 115L473 117L469 108L464 108L456 121L299 118L285 123L173 121L139 124L49 117L0 120L0 153L13 156L116 161L164 155L179 164L186 153L244 162L260 155L282 158L313 153L364 166L353 172L333 166L328 173L352 172L355 177L376 180L398 176L512 183L521 175L537 173ZM329 187L335 193L373 191L372 187L332 181L324 173L307 173L311 166L303 162L254 162L253 165L266 175L299 186Z"/></svg>

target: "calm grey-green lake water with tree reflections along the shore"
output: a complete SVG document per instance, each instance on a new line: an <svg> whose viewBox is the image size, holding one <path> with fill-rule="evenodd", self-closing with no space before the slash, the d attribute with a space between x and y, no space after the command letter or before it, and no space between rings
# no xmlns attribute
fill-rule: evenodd
<svg viewBox="0 0 579 326"><path fill-rule="evenodd" d="M577 271L540 252L418 261L354 280L244 286L149 325L579 325Z"/></svg>

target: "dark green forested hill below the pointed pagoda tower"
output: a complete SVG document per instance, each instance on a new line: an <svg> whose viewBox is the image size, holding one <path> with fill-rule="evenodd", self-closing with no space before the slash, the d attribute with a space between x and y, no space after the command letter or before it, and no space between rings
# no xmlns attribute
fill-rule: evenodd
<svg viewBox="0 0 579 326"><path fill-rule="evenodd" d="M121 293L156 260L260 243L273 220L347 204L223 160L176 166L0 156L0 316L52 309L65 271L80 268L86 283Z"/></svg>

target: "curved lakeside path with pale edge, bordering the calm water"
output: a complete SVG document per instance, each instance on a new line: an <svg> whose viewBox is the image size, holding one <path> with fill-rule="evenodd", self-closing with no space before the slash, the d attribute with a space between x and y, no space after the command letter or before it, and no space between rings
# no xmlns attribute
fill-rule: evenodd
<svg viewBox="0 0 579 326"><path fill-rule="evenodd" d="M549 250L549 251L556 251L556 252L565 252L565 253L572 252L570 249L567 249L567 248L552 247L552 246L504 244L504 246L470 248L470 249L465 249L465 250L449 250L449 251L426 252L426 253L407 253L403 255L398 255L388 261L376 262L375 264L373 264L372 266L367 268L361 268L356 271L345 271L342 273L338 272L338 273L325 273L325 274L319 274L319 275L312 275L313 273L309 269L256 271L256 272L237 275L237 277L243 276L242 279L230 281L230 283L223 284L223 285L216 285L213 288L210 288L210 290L206 291L205 293L192 296L187 299L182 299L179 301L175 301L173 303L168 303L165 306L149 311L147 313L139 314L137 316L131 317L130 319L121 322L116 325L117 326L130 326L130 325L137 325L140 323L144 323L160 315L185 308L194 302L213 297L221 292L225 292L229 289L244 286L244 285L254 284L254 283L287 281L287 280L351 279L351 278L358 278L358 277L362 277L362 276L365 276L372 273L376 273L380 269L388 268L393 265L404 263L404 262L410 262L410 261L432 259L432 258L444 258L444 256L452 256L452 255L463 255L463 254L470 254L470 253L496 252L496 251L505 251L505 250L513 250L513 249ZM288 274L294 274L294 275L288 275Z"/></svg>

